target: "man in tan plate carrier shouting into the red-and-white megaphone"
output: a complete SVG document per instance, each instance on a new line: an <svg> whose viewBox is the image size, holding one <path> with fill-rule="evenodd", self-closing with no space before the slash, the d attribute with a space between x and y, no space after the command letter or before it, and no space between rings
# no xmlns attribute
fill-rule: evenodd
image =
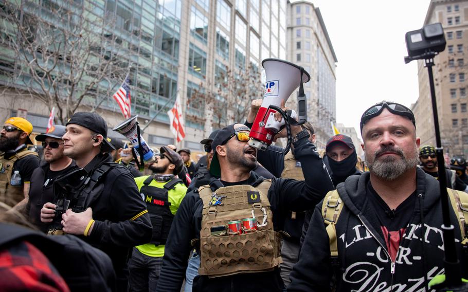
<svg viewBox="0 0 468 292"><path fill-rule="evenodd" d="M209 186L188 193L177 210L158 291L180 290L191 242L201 255L200 276L194 280L193 291L283 289L280 237L275 232L282 229L283 212L312 208L333 189L331 181L316 181L317 177L306 171L317 168L326 172L318 153L312 151L315 147L308 140L309 133L301 130L292 126L305 181L265 180L251 171L257 166L257 150L247 144L247 126L231 124L216 135L210 165L214 177ZM243 218L248 221L244 229L240 226Z"/></svg>

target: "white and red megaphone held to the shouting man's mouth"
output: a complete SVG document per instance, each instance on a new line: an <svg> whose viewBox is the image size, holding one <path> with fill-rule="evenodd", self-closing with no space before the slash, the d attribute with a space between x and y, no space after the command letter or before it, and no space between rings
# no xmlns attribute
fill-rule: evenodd
<svg viewBox="0 0 468 292"><path fill-rule="evenodd" d="M281 122L275 121L274 115L278 111L271 107L279 108L281 101L284 99L286 102L298 86L300 86L297 101L298 114L292 111L291 117L297 117L300 124L307 121L307 101L302 83L309 82L310 75L303 67L279 59L265 59L262 61L262 66L266 75L265 92L262 105L250 130L248 144L257 149L266 150L273 142L275 134L284 125L284 119Z"/></svg>

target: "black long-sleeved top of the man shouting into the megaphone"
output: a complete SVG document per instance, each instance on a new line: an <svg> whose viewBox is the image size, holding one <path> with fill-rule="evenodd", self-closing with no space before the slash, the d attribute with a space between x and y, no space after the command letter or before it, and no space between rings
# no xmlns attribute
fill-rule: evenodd
<svg viewBox="0 0 468 292"><path fill-rule="evenodd" d="M312 208L333 189L331 181L317 181L319 176L313 175L309 168L320 168L323 162L319 155L312 151L315 147L308 139L295 142L296 155L303 161L305 181L294 179L273 179L268 191L268 199L273 211L275 230L282 230L284 211L302 211ZM323 171L325 169L321 168ZM257 186L263 181L255 172L250 172L250 179L245 184ZM158 280L157 291L179 291L185 277L187 260L192 246L192 239L200 239L203 201L196 190L188 193L177 210L163 258L163 267ZM282 282L279 269L271 272L239 274L235 276L208 279L197 276L194 288L203 283L204 290L210 291L275 291L281 290Z"/></svg>

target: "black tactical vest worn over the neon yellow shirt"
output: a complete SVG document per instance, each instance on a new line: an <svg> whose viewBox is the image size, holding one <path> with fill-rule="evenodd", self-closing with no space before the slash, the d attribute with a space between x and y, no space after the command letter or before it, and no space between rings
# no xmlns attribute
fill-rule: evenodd
<svg viewBox="0 0 468 292"><path fill-rule="evenodd" d="M158 246L166 244L169 230L171 229L174 215L169 206L169 191L174 189L177 184L184 184L182 179L173 178L166 182L163 188L150 186L153 176L149 176L143 181L140 193L145 200L148 214L150 214L151 224L153 225L153 237L150 243Z"/></svg>

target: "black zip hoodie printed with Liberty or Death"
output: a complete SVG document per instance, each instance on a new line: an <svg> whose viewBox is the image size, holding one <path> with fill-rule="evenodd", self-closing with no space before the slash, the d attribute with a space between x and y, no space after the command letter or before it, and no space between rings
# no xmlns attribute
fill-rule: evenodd
<svg viewBox="0 0 468 292"><path fill-rule="evenodd" d="M417 169L415 210L411 216L391 273L391 260L381 230L370 223L375 210L369 208L366 185L369 172L350 176L337 190L345 203L336 225L339 268L337 291L419 291L424 288L424 273L428 280L444 269L442 211L438 181ZM288 291L329 291L333 267L330 246L321 215L321 203L315 208L309 231L290 278ZM460 228L451 209L455 226L457 252L461 254ZM423 218L421 218L423 210ZM424 228L421 228L421 219ZM424 238L422 241L421 238ZM466 261L461 259L463 278Z"/></svg>

